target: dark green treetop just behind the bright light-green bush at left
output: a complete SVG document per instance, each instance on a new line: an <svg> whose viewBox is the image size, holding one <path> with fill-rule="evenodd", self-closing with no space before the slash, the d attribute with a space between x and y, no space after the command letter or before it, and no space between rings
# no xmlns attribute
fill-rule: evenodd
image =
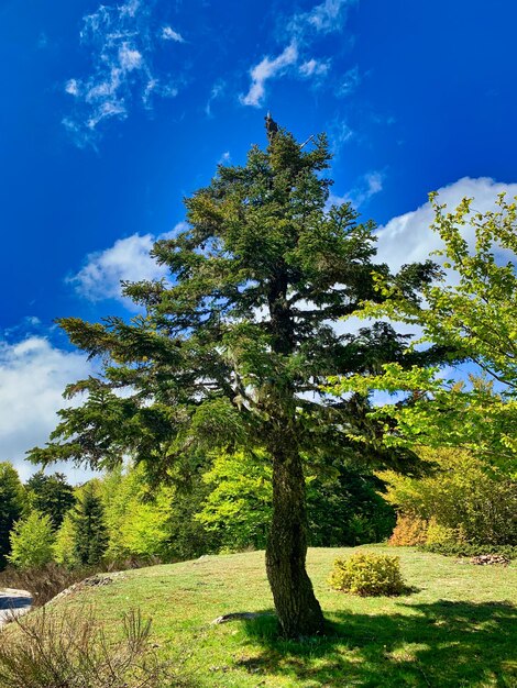
<svg viewBox="0 0 517 688"><path fill-rule="evenodd" d="M51 517L55 530L75 503L74 488L62 473L46 476L35 473L25 484L31 508Z"/></svg>

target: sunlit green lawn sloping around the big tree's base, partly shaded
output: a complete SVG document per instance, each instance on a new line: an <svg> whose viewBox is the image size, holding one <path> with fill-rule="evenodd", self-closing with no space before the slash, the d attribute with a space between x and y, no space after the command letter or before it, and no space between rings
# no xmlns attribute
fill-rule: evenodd
<svg viewBox="0 0 517 688"><path fill-rule="evenodd" d="M364 547L400 556L413 592L355 598L327 584L351 550L310 550L309 574L330 634L276 637L273 615L211 625L238 611L272 611L260 552L128 572L59 602L94 603L108 626L140 607L164 654L186 661L199 687L517 686L517 565L474 566L410 547Z"/></svg>

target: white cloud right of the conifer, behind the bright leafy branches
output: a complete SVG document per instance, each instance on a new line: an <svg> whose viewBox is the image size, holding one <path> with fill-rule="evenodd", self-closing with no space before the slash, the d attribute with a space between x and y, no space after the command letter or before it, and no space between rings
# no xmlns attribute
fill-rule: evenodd
<svg viewBox="0 0 517 688"><path fill-rule="evenodd" d="M460 201L474 198L472 208L477 212L494 210L494 200L506 191L508 197L517 195L517 184L502 184L488 177L472 179L463 177L439 192L439 202L454 210ZM430 229L433 212L429 202L417 210L393 218L377 231L377 259L396 270L406 263L425 260L429 253L441 247L441 241ZM473 241L473 231L465 229L465 237ZM438 259L438 258L435 258Z"/></svg>

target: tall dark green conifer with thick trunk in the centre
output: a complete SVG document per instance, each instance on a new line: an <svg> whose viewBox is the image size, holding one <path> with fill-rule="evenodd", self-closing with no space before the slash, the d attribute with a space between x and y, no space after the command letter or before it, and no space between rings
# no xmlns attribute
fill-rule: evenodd
<svg viewBox="0 0 517 688"><path fill-rule="evenodd" d="M273 470L267 576L282 632L299 636L324 625L305 567L301 456L341 456L342 429L364 415L356 398L319 396L320 384L402 360L405 339L382 323L360 336L332 329L377 296L374 224L358 223L349 203L328 208L324 135L308 149L283 130L267 132L267 149L220 166L185 201L187 229L155 244L170 281L123 286L143 314L61 321L74 344L102 356L105 375L68 388L87 400L61 412L51 444L31 457L110 467L130 454L163 480L193 475L193 457L207 450L263 452ZM432 273L422 265L400 280L410 292Z"/></svg>

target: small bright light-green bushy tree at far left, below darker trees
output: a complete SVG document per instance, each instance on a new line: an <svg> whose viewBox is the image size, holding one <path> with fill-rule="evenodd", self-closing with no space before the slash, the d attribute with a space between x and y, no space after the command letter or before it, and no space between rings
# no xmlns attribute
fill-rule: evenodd
<svg viewBox="0 0 517 688"><path fill-rule="evenodd" d="M7 558L18 568L40 568L52 562L54 530L48 515L32 511L16 521L10 537L11 554Z"/></svg>

